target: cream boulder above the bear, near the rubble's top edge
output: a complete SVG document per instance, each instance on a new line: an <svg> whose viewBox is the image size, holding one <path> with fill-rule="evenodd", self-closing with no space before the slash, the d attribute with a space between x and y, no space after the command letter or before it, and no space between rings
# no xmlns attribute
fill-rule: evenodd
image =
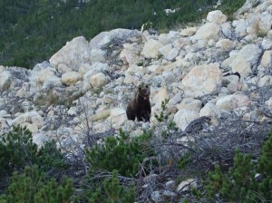
<svg viewBox="0 0 272 203"><path fill-rule="evenodd" d="M141 55L143 55L145 58L158 58L160 55L159 49L163 46L162 43L160 43L157 40L150 39L146 43L144 43Z"/></svg>

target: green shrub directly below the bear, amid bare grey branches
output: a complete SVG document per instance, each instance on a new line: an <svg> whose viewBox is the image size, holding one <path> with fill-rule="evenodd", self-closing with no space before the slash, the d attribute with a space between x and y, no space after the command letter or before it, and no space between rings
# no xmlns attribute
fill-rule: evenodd
<svg viewBox="0 0 272 203"><path fill-rule="evenodd" d="M135 176L142 160L153 153L146 144L149 139L148 134L129 138L124 131L120 131L119 137L108 137L102 146L95 145L88 150L87 159L93 170L104 169L112 172L117 169L123 176Z"/></svg>

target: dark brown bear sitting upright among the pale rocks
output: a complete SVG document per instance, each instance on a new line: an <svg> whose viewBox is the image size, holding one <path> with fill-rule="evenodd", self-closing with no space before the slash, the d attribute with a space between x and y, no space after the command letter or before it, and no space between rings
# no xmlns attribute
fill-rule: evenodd
<svg viewBox="0 0 272 203"><path fill-rule="evenodd" d="M127 117L129 120L150 121L151 119L151 88L148 84L141 84L134 97L127 106Z"/></svg>

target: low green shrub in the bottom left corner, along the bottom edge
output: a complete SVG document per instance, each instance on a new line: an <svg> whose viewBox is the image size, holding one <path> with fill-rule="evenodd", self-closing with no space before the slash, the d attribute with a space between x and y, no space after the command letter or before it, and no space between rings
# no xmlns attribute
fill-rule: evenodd
<svg viewBox="0 0 272 203"><path fill-rule="evenodd" d="M72 179L63 179L60 184L55 179L45 179L44 173L34 167L25 167L23 174L15 172L1 203L65 203L73 195Z"/></svg>

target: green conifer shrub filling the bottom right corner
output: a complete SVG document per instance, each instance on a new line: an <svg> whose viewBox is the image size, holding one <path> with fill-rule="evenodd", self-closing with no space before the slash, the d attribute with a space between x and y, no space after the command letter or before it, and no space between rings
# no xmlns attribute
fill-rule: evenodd
<svg viewBox="0 0 272 203"><path fill-rule="evenodd" d="M207 196L216 194L229 202L268 202L272 199L272 132L263 144L262 153L253 164L249 154L236 151L234 166L224 174L219 166L204 181ZM259 174L260 179L255 178Z"/></svg>

